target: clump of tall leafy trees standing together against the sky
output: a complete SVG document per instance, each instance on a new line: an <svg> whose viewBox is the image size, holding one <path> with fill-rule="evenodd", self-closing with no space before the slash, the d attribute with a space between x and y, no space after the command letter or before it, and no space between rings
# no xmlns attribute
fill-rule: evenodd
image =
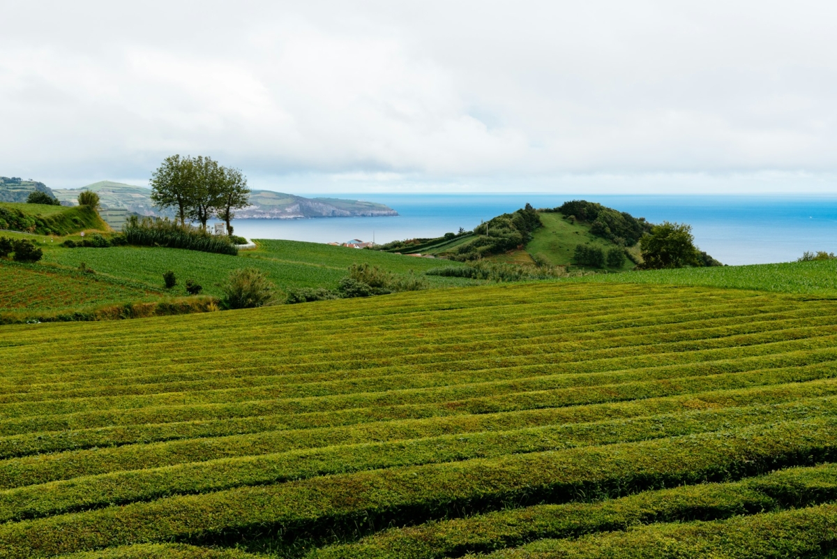
<svg viewBox="0 0 837 559"><path fill-rule="evenodd" d="M157 208L177 208L180 223L186 218L203 228L218 215L230 226L236 208L249 204L247 179L238 170L222 167L211 157L167 157L151 177L151 199Z"/></svg>

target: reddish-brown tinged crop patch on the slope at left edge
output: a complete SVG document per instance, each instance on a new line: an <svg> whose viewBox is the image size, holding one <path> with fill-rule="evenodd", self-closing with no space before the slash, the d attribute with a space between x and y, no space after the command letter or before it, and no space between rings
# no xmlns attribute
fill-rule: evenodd
<svg viewBox="0 0 837 559"><path fill-rule="evenodd" d="M159 292L69 270L0 261L0 313L79 310L88 305L154 300Z"/></svg>

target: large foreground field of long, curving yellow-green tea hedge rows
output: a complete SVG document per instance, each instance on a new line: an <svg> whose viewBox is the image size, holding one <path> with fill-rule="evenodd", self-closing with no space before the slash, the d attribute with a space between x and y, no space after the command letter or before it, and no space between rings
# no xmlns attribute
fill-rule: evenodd
<svg viewBox="0 0 837 559"><path fill-rule="evenodd" d="M0 556L828 556L835 342L628 284L3 326Z"/></svg>

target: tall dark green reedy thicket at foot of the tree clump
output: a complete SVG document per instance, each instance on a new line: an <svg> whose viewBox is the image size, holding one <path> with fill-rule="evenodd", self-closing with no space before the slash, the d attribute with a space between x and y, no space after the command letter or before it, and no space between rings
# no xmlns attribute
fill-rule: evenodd
<svg viewBox="0 0 837 559"><path fill-rule="evenodd" d="M212 235L203 228L181 225L167 218L131 217L122 233L127 244L198 250L233 256L239 254L239 249L230 242L229 238Z"/></svg>

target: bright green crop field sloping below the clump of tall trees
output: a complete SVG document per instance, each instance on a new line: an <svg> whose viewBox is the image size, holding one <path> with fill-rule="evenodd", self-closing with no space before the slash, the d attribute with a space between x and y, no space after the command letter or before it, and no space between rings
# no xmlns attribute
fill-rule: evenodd
<svg viewBox="0 0 837 559"><path fill-rule="evenodd" d="M183 249L114 247L110 249L61 249L44 254L44 261L78 268L85 262L97 272L141 282L151 289L162 288L162 274L174 271L181 285L196 280L207 295L221 295L221 285L234 269L254 267L264 271L280 289L336 287L352 264L367 262L398 274L439 265L439 260L419 259L373 250L347 249L327 244L259 240L259 249L238 256L208 254ZM454 263L451 265L461 265ZM430 285L470 285L472 280L428 277ZM177 288L182 290L182 287ZM179 295L183 295L182 291Z"/></svg>

